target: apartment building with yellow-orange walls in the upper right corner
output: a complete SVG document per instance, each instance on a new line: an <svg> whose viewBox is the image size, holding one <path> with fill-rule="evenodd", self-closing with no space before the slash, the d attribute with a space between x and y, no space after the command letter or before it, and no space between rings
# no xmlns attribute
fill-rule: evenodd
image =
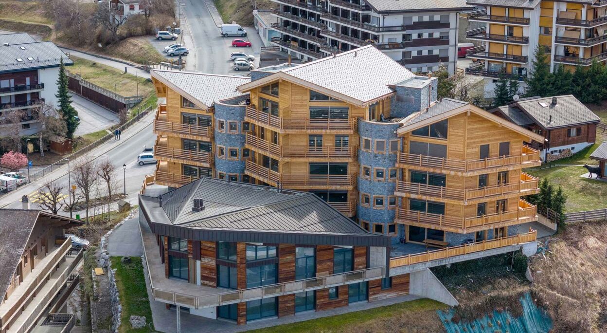
<svg viewBox="0 0 607 333"><path fill-rule="evenodd" d="M486 78L486 95L492 95L495 81L504 71L521 81L531 70L534 52L544 47L551 70L557 66L574 69L589 66L594 59L607 60L607 3L601 0L469 0L485 9L469 13L468 21L486 27L466 32L468 39L484 45L469 50L476 64L467 74Z"/></svg>

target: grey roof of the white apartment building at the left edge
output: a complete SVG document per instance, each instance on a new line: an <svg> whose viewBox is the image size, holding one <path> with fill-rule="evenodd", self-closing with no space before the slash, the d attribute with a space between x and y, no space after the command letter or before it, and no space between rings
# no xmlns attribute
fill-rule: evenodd
<svg viewBox="0 0 607 333"><path fill-rule="evenodd" d="M0 73L58 67L61 58L65 66L73 65L73 61L52 41L0 46Z"/></svg>

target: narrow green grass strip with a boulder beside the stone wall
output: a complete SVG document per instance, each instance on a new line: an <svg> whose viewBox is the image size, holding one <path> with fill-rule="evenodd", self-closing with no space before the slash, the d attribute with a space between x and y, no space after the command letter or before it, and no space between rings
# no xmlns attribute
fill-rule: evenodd
<svg viewBox="0 0 607 333"><path fill-rule="evenodd" d="M131 263L123 264L120 256L112 257L112 269L116 269L116 284L122 305L122 318L118 332L154 332L152 309L148 298L148 289L143 276L141 258L132 256ZM132 329L129 318L131 315L146 317L149 326ZM151 326L151 328L150 328Z"/></svg>

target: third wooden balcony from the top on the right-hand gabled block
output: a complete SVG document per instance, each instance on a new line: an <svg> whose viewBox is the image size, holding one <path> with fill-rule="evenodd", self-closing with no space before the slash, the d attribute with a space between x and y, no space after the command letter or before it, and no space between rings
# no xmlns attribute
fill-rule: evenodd
<svg viewBox="0 0 607 333"><path fill-rule="evenodd" d="M522 224L537 221L537 208L529 202L519 199L518 209L493 213L483 216L460 218L422 211L399 208L396 211L396 222L418 227L433 228L455 233L471 233L489 228L506 227L507 225Z"/></svg>

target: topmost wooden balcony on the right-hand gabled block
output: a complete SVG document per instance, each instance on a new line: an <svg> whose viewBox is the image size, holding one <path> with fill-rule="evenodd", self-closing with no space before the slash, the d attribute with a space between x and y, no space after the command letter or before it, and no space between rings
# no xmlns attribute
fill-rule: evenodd
<svg viewBox="0 0 607 333"><path fill-rule="evenodd" d="M443 157L399 153L396 165L399 168L416 166L419 170L450 172L463 176L481 174L487 170L512 170L541 165L540 153L528 146L522 146L520 155L490 157L478 160L455 160Z"/></svg>

